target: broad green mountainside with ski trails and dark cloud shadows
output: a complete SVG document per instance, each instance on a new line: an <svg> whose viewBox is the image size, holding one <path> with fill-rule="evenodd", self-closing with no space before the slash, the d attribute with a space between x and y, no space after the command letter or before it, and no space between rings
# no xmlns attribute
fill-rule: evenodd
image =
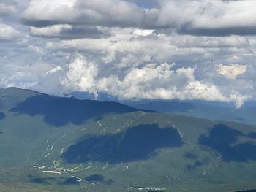
<svg viewBox="0 0 256 192"><path fill-rule="evenodd" d="M0 90L0 191L256 188L256 127Z"/></svg>

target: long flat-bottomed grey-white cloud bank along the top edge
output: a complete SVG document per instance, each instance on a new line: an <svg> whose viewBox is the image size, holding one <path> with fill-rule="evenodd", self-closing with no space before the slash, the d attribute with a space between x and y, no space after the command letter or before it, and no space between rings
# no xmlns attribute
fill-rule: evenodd
<svg viewBox="0 0 256 192"><path fill-rule="evenodd" d="M25 23L174 28L181 34L226 36L256 34L255 1L159 1L145 9L133 2L32 0L23 13Z"/></svg>

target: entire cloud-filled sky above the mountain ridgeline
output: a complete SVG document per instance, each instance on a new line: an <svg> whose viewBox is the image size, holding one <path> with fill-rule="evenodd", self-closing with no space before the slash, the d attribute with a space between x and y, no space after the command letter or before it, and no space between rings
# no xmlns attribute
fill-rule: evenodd
<svg viewBox="0 0 256 192"><path fill-rule="evenodd" d="M256 100L254 0L0 0L0 88Z"/></svg>

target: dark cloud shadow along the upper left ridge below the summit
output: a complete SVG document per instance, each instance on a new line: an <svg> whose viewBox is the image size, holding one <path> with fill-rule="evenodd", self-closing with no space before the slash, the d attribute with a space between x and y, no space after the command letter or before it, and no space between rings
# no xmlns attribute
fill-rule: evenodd
<svg viewBox="0 0 256 192"><path fill-rule="evenodd" d="M42 94L26 99L10 111L31 116L43 115L46 123L52 126L65 126L68 123L80 125L90 118L101 118L108 113L125 113L138 110L116 102L78 100Z"/></svg>

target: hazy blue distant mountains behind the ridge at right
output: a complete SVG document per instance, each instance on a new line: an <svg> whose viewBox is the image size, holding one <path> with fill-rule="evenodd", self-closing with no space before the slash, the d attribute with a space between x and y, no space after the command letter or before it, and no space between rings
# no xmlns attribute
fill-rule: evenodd
<svg viewBox="0 0 256 192"><path fill-rule="evenodd" d="M236 109L232 104L209 101L128 101L124 103L144 110L256 125L254 102L248 102L239 109Z"/></svg>

